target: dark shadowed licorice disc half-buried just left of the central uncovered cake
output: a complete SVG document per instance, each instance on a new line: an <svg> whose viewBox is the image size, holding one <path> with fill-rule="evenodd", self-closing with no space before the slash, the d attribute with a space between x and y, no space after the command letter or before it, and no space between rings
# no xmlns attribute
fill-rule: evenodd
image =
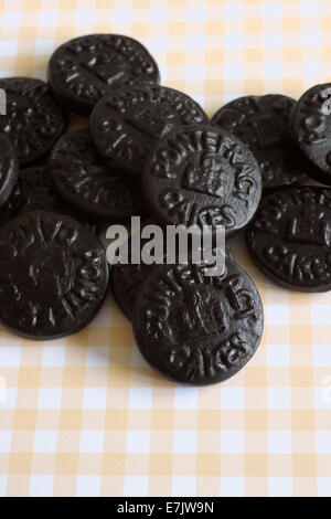
<svg viewBox="0 0 331 519"><path fill-rule="evenodd" d="M106 220L141 213L140 187L105 163L87 129L64 135L52 150L49 168L57 192L84 213Z"/></svg>

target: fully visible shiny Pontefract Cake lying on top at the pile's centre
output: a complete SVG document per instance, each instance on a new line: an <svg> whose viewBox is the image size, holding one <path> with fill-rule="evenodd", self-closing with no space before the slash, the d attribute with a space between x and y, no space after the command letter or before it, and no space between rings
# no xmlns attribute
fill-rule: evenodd
<svg viewBox="0 0 331 519"><path fill-rule="evenodd" d="M224 225L227 237L249 222L261 193L252 151L215 126L181 127L166 136L149 155L142 182L161 223Z"/></svg>

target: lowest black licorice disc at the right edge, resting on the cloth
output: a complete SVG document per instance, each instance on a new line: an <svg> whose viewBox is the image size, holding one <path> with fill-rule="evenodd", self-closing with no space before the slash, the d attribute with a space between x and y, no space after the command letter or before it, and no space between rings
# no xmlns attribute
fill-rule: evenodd
<svg viewBox="0 0 331 519"><path fill-rule="evenodd" d="M331 189L287 188L261 200L247 227L254 262L275 283L331 289Z"/></svg>

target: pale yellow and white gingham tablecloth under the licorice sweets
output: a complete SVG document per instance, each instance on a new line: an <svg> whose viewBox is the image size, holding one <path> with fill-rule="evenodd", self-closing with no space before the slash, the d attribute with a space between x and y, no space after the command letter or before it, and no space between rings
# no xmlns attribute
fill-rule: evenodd
<svg viewBox="0 0 331 519"><path fill-rule="evenodd" d="M331 77L330 0L0 0L0 31L1 76L41 78L65 40L129 34L210 115ZM66 339L0 329L1 496L331 496L331 295L274 286L243 243L266 326L223 384L153 373L110 297Z"/></svg>

